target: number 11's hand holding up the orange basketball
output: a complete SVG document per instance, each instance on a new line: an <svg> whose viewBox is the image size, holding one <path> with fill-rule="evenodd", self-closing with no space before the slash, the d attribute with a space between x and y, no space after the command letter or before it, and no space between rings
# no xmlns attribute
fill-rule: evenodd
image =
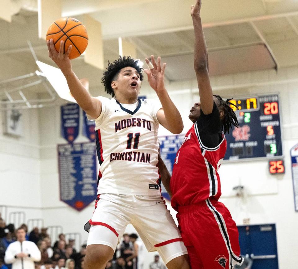
<svg viewBox="0 0 298 269"><path fill-rule="evenodd" d="M49 57L55 62L56 65L61 69L63 74L66 74L71 71L71 63L69 59L69 53L72 46L70 45L67 49L67 52L63 53L63 41L60 42L59 52L56 51L54 47L53 39L47 41L47 49L49 52Z"/></svg>

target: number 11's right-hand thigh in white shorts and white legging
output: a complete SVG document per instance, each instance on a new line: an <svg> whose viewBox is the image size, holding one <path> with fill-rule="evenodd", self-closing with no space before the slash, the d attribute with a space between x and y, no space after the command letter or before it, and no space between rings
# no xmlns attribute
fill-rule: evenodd
<svg viewBox="0 0 298 269"><path fill-rule="evenodd" d="M157 250L167 264L187 254L180 231L161 197L143 196L138 201L132 224L148 251Z"/></svg>

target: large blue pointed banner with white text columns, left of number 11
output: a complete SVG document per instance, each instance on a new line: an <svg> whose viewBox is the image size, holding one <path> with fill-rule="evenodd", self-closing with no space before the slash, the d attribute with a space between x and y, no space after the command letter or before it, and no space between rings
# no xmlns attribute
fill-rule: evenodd
<svg viewBox="0 0 298 269"><path fill-rule="evenodd" d="M79 211L96 198L95 147L93 142L58 145L60 200Z"/></svg>

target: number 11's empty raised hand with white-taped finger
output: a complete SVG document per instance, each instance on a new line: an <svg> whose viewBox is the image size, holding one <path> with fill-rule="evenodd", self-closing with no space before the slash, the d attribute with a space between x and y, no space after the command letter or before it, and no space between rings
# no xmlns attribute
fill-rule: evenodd
<svg viewBox="0 0 298 269"><path fill-rule="evenodd" d="M145 61L149 69L144 69L144 72L148 76L149 85L157 93L165 90L165 66L166 64L160 64L160 57L157 57L157 63L153 55L151 55L151 63L145 58Z"/></svg>

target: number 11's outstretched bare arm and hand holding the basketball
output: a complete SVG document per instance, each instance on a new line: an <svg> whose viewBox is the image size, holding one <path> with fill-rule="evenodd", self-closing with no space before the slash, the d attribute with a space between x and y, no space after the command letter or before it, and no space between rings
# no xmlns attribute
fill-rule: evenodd
<svg viewBox="0 0 298 269"><path fill-rule="evenodd" d="M91 117L96 119L102 112L102 103L97 98L90 96L89 92L85 89L79 78L71 69L71 62L68 57L72 46L68 47L66 53L63 54L63 41L60 42L59 53L56 52L53 39L47 41L47 49L49 57L58 65L63 75L66 78L70 93L78 102L79 106Z"/></svg>

